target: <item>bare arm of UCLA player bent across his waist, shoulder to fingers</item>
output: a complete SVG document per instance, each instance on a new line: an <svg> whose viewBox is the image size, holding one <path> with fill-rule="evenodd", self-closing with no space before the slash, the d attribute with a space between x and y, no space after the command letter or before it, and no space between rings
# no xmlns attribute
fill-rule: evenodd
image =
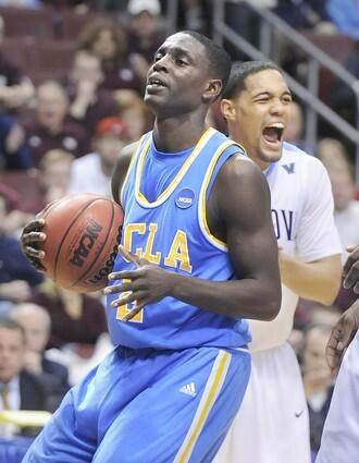
<svg viewBox="0 0 359 463"><path fill-rule="evenodd" d="M135 302L123 321L165 296L227 317L271 320L277 315L281 281L265 178L257 166L233 156L222 166L209 203L209 228L226 242L239 279L213 281L168 271L120 246L135 268L110 273L110 281L122 281L104 293L119 294L114 307Z"/></svg>

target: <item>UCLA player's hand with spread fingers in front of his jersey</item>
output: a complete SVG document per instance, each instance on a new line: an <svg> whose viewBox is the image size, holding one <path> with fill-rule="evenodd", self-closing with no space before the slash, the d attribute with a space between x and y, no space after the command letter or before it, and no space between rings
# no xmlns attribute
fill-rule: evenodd
<svg viewBox="0 0 359 463"><path fill-rule="evenodd" d="M104 294L115 294L129 292L128 295L120 296L111 304L113 307L134 303L134 308L126 314L122 321L131 320L147 304L160 301L170 293L171 272L163 270L161 267L149 263L148 260L136 256L126 251L123 246L119 246L119 253L133 263L136 268L133 270L114 271L109 275L109 280L125 280L119 284L107 287Z"/></svg>

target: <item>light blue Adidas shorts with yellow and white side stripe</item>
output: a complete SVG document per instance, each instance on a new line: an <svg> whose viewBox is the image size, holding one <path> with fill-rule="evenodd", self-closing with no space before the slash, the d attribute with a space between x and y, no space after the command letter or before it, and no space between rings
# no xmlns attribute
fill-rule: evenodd
<svg viewBox="0 0 359 463"><path fill-rule="evenodd" d="M116 348L62 401L23 463L207 463L250 373L248 351Z"/></svg>

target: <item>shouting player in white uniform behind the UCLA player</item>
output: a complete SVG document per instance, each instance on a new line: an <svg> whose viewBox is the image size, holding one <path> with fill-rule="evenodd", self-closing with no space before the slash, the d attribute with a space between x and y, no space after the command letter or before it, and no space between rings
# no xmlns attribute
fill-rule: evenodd
<svg viewBox="0 0 359 463"><path fill-rule="evenodd" d="M222 99L230 136L264 171L280 246L282 307L250 321L252 371L215 463L309 463L309 419L296 355L287 343L298 297L331 304L341 282L341 244L322 163L283 143L292 94L273 63L233 66Z"/></svg>

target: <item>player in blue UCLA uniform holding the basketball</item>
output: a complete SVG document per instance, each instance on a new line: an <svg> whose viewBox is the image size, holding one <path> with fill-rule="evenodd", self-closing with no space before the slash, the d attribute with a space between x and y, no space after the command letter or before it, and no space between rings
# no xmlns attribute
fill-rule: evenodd
<svg viewBox="0 0 359 463"><path fill-rule="evenodd" d="M112 182L125 211L104 291L115 349L24 463L210 463L224 439L250 371L243 318L270 320L281 301L265 178L205 124L230 69L191 32L157 51L145 95L153 131L121 154ZM37 265L42 226L22 237Z"/></svg>

